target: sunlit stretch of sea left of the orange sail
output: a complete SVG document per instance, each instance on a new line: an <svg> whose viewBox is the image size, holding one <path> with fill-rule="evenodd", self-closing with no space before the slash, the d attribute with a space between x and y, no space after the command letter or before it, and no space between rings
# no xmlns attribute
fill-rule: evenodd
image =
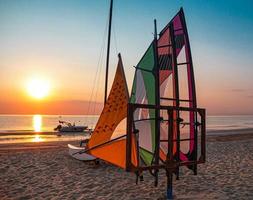
<svg viewBox="0 0 253 200"><path fill-rule="evenodd" d="M59 136L54 128L58 121L94 128L98 116L79 115L0 115L0 144L76 141L89 137L87 133L64 133Z"/></svg>

